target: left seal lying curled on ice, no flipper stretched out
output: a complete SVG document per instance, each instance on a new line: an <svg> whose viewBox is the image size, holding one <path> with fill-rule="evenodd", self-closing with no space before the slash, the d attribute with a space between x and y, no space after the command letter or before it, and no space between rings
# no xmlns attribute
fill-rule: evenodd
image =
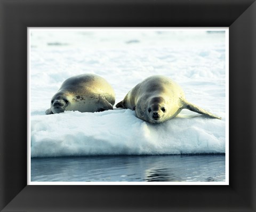
<svg viewBox="0 0 256 212"><path fill-rule="evenodd" d="M87 73L65 80L45 114L107 111L113 109L114 104L115 92L110 84L99 75Z"/></svg>

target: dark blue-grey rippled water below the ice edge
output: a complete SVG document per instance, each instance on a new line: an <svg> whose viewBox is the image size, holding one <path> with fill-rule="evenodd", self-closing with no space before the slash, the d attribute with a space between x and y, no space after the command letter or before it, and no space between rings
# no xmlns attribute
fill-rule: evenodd
<svg viewBox="0 0 256 212"><path fill-rule="evenodd" d="M31 158L33 181L225 181L225 155Z"/></svg>

